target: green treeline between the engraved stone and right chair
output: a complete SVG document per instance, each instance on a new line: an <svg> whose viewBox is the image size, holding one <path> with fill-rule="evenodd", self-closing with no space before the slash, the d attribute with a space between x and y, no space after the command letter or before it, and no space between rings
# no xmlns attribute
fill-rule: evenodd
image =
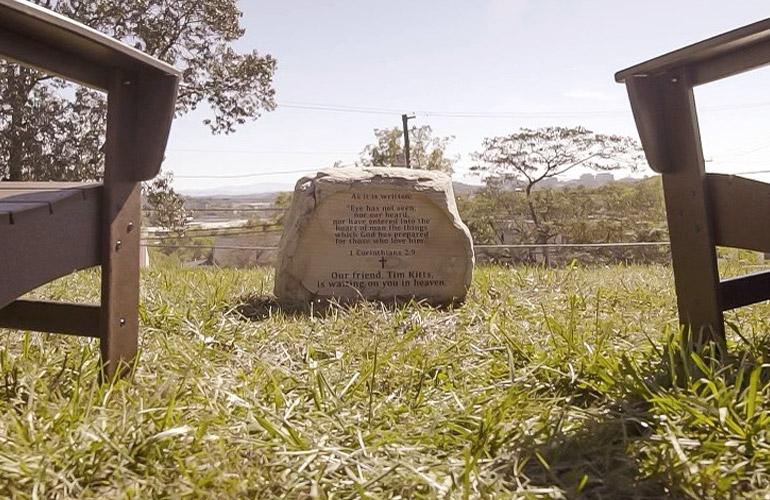
<svg viewBox="0 0 770 500"><path fill-rule="evenodd" d="M522 190L484 187L457 199L476 245L640 243L668 240L659 177L600 187ZM537 222L536 222L537 221ZM483 249L480 261L546 263L668 262L665 245Z"/></svg>

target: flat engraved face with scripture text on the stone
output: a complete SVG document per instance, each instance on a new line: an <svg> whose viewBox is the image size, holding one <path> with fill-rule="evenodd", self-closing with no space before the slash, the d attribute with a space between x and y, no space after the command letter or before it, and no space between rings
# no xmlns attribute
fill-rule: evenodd
<svg viewBox="0 0 770 500"><path fill-rule="evenodd" d="M448 216L424 195L351 190L319 207L306 241L313 253L303 280L320 296L367 298L420 294L447 285L447 262L464 248L441 226ZM321 234L318 234L321 233Z"/></svg>

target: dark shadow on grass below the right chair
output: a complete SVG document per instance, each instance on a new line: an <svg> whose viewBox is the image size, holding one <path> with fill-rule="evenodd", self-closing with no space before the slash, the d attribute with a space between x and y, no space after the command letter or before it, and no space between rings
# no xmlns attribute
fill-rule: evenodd
<svg viewBox="0 0 770 500"><path fill-rule="evenodd" d="M693 349L687 340L683 346L680 341L669 339L663 349L656 349L651 359L643 361L644 369L621 356L623 362L611 375L616 377L615 387L623 393L603 402L600 414L589 414L592 406L595 409L591 398L582 401L580 394L576 394L571 399L572 409L585 407L585 421L571 429L562 429L559 422L544 443L522 450L520 456L525 463L520 473L531 485L557 487L566 498L721 498L727 491L722 489L721 478L713 475L713 468L709 469L711 474L692 472L697 471L693 468L688 477L683 468L692 464L687 465L687 459L682 463L673 458L684 456L679 440L695 430L683 422L697 422L698 417L711 419L711 428L720 436L719 417L708 413L709 404L716 397L711 391L722 391L719 397L744 397L760 390L751 387L749 374L756 373L760 379L762 360L770 354L768 340L770 336L752 345L733 346L733 352L723 357L712 354L716 349L709 344ZM762 386L760 383L757 387ZM663 422L672 419L681 420L683 435L664 427ZM738 425L744 424L750 426L748 422ZM698 437L703 439L707 438ZM724 439L724 435L711 445L719 439ZM726 460L728 467L731 461L743 463L751 459L748 449L725 457L699 448L693 449L689 458L706 467L714 465L714 461ZM515 471L511 474L515 475ZM749 481L730 482L730 498L733 493L751 492Z"/></svg>

